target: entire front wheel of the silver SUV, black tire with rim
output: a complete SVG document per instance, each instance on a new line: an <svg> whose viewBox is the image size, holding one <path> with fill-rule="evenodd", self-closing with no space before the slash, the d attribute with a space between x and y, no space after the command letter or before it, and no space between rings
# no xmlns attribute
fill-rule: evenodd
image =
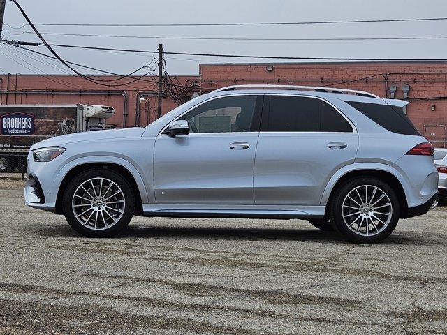
<svg viewBox="0 0 447 335"><path fill-rule="evenodd" d="M62 201L66 221L86 237L118 234L135 211L135 194L129 182L106 169L76 175L66 186Z"/></svg>

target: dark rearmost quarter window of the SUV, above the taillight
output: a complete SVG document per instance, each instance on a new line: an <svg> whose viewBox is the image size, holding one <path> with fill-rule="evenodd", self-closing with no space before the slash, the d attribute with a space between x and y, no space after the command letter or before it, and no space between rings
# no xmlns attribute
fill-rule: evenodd
<svg viewBox="0 0 447 335"><path fill-rule="evenodd" d="M400 107L379 105L378 103L360 103L358 101L345 102L388 131L403 135L420 135Z"/></svg>

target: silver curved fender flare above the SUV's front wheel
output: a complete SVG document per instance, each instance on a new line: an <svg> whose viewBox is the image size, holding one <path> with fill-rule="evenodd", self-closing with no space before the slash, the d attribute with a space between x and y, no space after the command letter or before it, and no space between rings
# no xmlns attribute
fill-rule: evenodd
<svg viewBox="0 0 447 335"><path fill-rule="evenodd" d="M138 186L138 191L140 192L142 203L154 203L154 192L150 191L150 186L147 184L147 182L145 182L145 179L141 177L144 174L140 172L139 169L136 168L135 165L133 165L131 162L117 156L98 156L95 154L94 156L71 158L71 161L67 163L64 168L59 171L57 177L54 178L52 189L59 190L62 180L64 180L68 172L73 170L73 168L76 168L79 165L91 163L111 163L121 165L123 168L126 168L127 170L129 170L129 172L131 172L133 179L135 179L135 182Z"/></svg>

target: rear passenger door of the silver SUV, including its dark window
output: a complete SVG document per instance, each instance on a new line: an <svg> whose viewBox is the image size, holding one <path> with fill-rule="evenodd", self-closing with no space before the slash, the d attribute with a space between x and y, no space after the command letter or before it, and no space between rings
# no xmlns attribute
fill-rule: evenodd
<svg viewBox="0 0 447 335"><path fill-rule="evenodd" d="M254 168L256 204L319 205L332 174L356 158L356 129L320 98L272 94L264 101Z"/></svg>

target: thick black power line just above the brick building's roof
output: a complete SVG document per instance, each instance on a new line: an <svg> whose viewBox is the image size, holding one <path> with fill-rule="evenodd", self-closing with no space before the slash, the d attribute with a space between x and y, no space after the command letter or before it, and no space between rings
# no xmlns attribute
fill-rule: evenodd
<svg viewBox="0 0 447 335"><path fill-rule="evenodd" d="M122 52L140 52L154 53L153 50L121 49L115 47L89 47L85 45L66 45L51 44L53 47L70 47L75 49L88 50L112 50ZM177 54L186 56L205 56L205 57L230 57L230 58L249 58L249 59L300 59L300 60L332 60L332 61L447 61L447 59L427 59L427 58L357 58L357 57L295 57L295 56L265 56L249 54L205 54L198 52L164 52L164 54Z"/></svg>

